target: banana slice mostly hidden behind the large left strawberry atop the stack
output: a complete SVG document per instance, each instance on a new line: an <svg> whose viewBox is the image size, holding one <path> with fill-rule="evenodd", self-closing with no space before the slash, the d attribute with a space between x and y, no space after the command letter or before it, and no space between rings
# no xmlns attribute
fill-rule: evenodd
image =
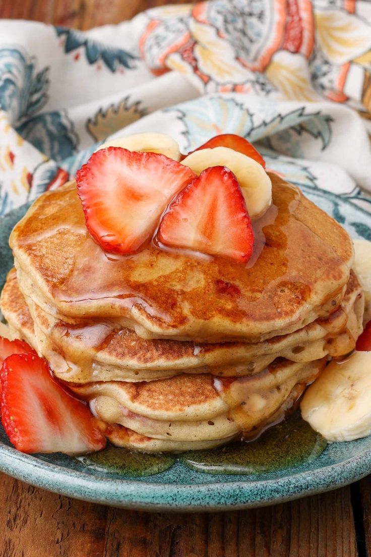
<svg viewBox="0 0 371 557"><path fill-rule="evenodd" d="M170 135L166 134L148 132L145 134L127 135L126 137L112 139L111 141L107 141L107 143L103 143L103 145L98 147L97 151L106 149L107 147L122 147L129 151L160 153L177 162L180 160L179 145Z"/></svg>

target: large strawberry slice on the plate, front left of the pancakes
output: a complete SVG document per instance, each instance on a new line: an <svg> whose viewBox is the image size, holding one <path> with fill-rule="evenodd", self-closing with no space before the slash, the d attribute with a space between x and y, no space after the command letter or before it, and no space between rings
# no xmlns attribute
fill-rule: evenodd
<svg viewBox="0 0 371 557"><path fill-rule="evenodd" d="M97 419L52 377L46 360L8 356L1 383L2 424L18 451L75 455L106 446Z"/></svg>

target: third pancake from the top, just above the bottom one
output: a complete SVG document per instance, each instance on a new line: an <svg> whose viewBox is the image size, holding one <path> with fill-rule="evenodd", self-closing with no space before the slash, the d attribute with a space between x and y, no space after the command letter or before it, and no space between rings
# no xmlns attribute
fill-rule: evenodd
<svg viewBox="0 0 371 557"><path fill-rule="evenodd" d="M282 360L260 377L231 381L180 375L136 384L135 393L132 389L128 393L130 384L122 382L71 388L78 397L90 400L93 413L106 423L152 439L219 442L270 423L271 417L286 408L286 400L293 402L293 393L296 400L324 365L325 359L308 364Z"/></svg>

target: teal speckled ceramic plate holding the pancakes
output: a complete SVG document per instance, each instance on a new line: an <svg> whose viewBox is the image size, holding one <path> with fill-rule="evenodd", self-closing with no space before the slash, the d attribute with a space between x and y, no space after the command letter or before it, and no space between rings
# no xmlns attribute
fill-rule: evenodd
<svg viewBox="0 0 371 557"><path fill-rule="evenodd" d="M337 218L353 237L371 240L371 215L351 198L306 190ZM0 287L12 266L9 232L24 213L17 209L0 219ZM143 510L232 510L288 501L346 485L371 472L371 437L333 443L303 465L260 475L214 475L175 462L152 476L122 477L114 470L65 455L23 455L0 428L0 470L47 490L107 505Z"/></svg>

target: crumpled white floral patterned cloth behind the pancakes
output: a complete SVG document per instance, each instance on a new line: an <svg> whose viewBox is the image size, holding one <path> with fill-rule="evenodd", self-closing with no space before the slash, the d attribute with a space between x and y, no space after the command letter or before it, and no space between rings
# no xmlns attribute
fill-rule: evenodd
<svg viewBox="0 0 371 557"><path fill-rule="evenodd" d="M371 2L209 0L84 33L0 20L0 214L138 131L185 153L243 135L371 239Z"/></svg>

